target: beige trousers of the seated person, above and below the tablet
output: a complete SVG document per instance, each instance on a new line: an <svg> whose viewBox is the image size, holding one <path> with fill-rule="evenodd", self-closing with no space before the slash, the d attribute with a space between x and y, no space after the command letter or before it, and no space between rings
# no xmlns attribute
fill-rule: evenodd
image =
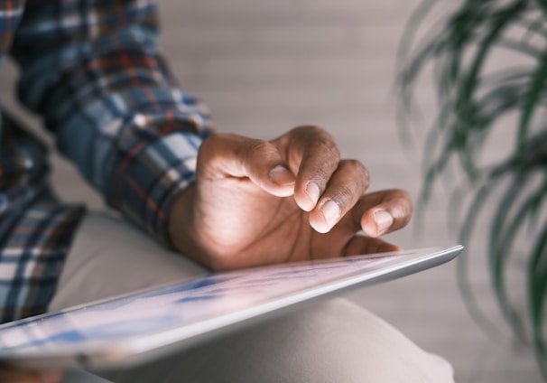
<svg viewBox="0 0 547 383"><path fill-rule="evenodd" d="M192 278L204 270L104 212L82 222L50 309ZM450 364L365 309L334 299L231 333L114 382L453 382ZM67 378L67 382L79 381Z"/></svg>

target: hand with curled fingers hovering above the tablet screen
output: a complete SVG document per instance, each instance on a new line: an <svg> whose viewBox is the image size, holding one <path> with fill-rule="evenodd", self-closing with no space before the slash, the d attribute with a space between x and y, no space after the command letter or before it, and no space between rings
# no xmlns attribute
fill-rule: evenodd
<svg viewBox="0 0 547 383"><path fill-rule="evenodd" d="M396 250L378 237L405 226L413 211L407 192L365 194L366 168L341 160L316 126L271 142L212 135L197 166L197 181L173 205L170 235L175 248L214 269Z"/></svg>

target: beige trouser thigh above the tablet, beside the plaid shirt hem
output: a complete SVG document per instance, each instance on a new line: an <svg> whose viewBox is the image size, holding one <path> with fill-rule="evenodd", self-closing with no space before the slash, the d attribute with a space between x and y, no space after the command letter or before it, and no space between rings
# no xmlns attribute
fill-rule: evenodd
<svg viewBox="0 0 547 383"><path fill-rule="evenodd" d="M163 248L115 215L91 211L79 226L50 311L201 276L207 270Z"/></svg>

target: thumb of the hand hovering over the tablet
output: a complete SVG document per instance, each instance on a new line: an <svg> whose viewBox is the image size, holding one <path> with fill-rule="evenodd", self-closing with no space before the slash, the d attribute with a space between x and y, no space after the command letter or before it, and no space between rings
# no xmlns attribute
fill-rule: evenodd
<svg viewBox="0 0 547 383"><path fill-rule="evenodd" d="M278 197L294 193L295 176L283 162L277 147L242 135L211 135L199 148L198 176L248 178Z"/></svg>

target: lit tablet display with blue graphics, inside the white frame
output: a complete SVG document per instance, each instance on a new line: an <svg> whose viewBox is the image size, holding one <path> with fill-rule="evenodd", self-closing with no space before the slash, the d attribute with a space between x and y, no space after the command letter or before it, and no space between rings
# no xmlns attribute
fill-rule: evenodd
<svg viewBox="0 0 547 383"><path fill-rule="evenodd" d="M48 344L116 341L134 334L154 333L173 326L202 321L272 302L289 293L305 291L340 276L374 269L394 258L348 258L346 262L318 262L313 266L274 266L210 275L91 304L76 310L46 315L47 320L0 326L0 358L5 350L24 352Z"/></svg>

